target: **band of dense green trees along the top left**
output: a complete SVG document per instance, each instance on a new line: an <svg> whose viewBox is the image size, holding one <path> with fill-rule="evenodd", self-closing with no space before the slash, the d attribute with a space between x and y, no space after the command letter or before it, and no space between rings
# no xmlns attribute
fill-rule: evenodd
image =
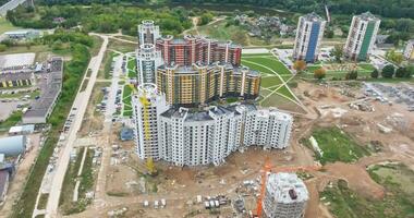
<svg viewBox="0 0 414 218"><path fill-rule="evenodd" d="M9 11L7 19L15 26L25 28L71 28L82 25L84 32L115 33L136 35L136 24L150 19L165 35L179 35L192 26L188 12L183 9L138 9L117 4L52 5L33 8L19 7Z"/></svg>

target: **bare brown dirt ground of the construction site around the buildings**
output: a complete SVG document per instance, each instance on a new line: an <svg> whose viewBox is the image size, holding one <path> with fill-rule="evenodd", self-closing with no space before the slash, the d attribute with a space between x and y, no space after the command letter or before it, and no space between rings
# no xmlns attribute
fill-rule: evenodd
<svg viewBox="0 0 414 218"><path fill-rule="evenodd" d="M346 92L344 92L346 90ZM312 179L305 181L310 199L307 203L306 218L331 218L327 206L319 202L319 192L330 181L344 179L350 189L363 196L381 198L383 187L375 183L366 172L366 167L386 160L399 160L414 169L414 114L400 105L386 105L378 101L369 101L375 112L365 112L349 107L349 102L356 101L361 96L361 87L346 85L315 85L300 82L294 89L296 95L307 107L309 113L295 116L291 146L284 150L263 150L251 147L244 153L235 152L223 166L203 168L179 168L166 162L157 162L159 175L149 182L156 183L157 192L142 193L139 191L138 171L145 169L145 162L137 160L133 155L133 143L124 144L122 148L130 150L129 160L125 164L109 167L105 192L127 193L122 196L108 196L105 206L90 206L85 213L72 217L107 216L109 210L127 207L125 217L217 217L203 208L203 205L188 206L188 201L195 202L196 195L214 196L224 194L234 199L240 193L241 183L245 180L256 180L266 157L270 157L271 164L278 166L310 166L315 165L313 152L300 143L303 137L310 136L315 125L341 126L346 133L362 146L376 144L377 150L368 157L363 157L356 162L328 164L322 171L312 172ZM289 110L289 108L283 108ZM378 123L392 131L381 133ZM136 169L135 169L136 168ZM135 187L131 187L131 181L135 181ZM145 199L166 198L168 207L154 209L143 207ZM255 209L255 194L247 194L246 208ZM95 213L95 214L94 214ZM220 209L221 217L233 217L233 210L228 205Z"/></svg>

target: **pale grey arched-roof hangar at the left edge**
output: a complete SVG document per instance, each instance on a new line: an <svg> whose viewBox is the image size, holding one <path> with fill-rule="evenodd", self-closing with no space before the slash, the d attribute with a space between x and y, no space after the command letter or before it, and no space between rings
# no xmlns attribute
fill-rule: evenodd
<svg viewBox="0 0 414 218"><path fill-rule="evenodd" d="M0 138L0 154L17 156L26 152L27 138L25 135Z"/></svg>

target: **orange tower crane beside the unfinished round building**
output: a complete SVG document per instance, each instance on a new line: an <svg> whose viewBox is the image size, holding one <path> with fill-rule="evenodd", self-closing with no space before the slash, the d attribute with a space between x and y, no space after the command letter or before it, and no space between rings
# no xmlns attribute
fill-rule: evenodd
<svg viewBox="0 0 414 218"><path fill-rule="evenodd" d="M263 215L263 199L265 197L265 191L266 191L266 180L270 172L297 172L297 171L318 171L320 170L320 165L314 165L314 166L285 166L285 167L272 167L270 164L269 158L266 158L265 164L261 168L261 183L260 183L260 193L257 197L257 205L256 205L256 215L253 217L261 218Z"/></svg>

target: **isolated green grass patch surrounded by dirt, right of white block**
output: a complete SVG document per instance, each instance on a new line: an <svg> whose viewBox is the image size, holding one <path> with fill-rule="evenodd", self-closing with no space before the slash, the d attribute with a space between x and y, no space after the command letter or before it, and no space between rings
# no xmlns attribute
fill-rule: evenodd
<svg viewBox="0 0 414 218"><path fill-rule="evenodd" d="M360 146L349 134L336 126L317 128L312 135L324 152L322 157L317 155L317 159L324 165L334 161L353 162L369 155L367 149ZM308 141L306 143L310 144Z"/></svg>

